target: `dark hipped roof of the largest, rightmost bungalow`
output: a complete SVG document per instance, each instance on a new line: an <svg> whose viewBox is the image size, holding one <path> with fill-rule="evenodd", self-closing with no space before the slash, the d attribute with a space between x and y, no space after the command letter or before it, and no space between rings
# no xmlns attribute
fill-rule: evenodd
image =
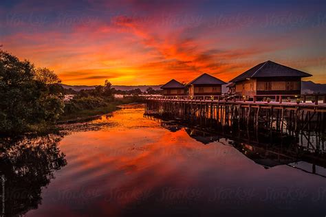
<svg viewBox="0 0 326 217"><path fill-rule="evenodd" d="M259 65L252 67L251 69L241 73L230 80L230 82L237 82L239 80L245 80L246 78L259 78L259 77L309 77L312 76L309 73L299 71L297 69L292 69L281 65L270 60L266 62L261 62Z"/></svg>

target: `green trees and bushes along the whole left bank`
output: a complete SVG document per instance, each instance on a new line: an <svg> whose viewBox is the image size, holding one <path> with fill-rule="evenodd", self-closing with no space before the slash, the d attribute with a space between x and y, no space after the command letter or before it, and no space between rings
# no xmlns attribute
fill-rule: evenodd
<svg viewBox="0 0 326 217"><path fill-rule="evenodd" d="M152 88L146 92L157 93ZM0 137L54 133L58 124L85 122L123 104L141 104L141 94L140 89L116 90L108 80L94 89L64 89L54 71L0 49ZM72 98L65 100L65 95Z"/></svg>

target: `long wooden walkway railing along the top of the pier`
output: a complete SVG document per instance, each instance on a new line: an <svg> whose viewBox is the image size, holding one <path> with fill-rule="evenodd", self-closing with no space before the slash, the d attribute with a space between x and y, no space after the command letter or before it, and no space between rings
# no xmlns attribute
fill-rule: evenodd
<svg viewBox="0 0 326 217"><path fill-rule="evenodd" d="M302 94L302 95L162 95L150 96L147 100L175 100L175 101L213 101L213 102L277 102L282 104L326 104L326 94Z"/></svg>

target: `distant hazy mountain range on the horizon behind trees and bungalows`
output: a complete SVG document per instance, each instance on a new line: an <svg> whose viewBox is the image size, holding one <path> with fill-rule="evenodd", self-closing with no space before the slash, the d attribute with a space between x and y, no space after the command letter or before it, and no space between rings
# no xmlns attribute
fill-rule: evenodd
<svg viewBox="0 0 326 217"><path fill-rule="evenodd" d="M65 89L73 89L74 91L80 91L82 89L94 89L94 86L87 86L87 85L67 85L61 84L61 86ZM120 91L130 91L133 89L140 89L142 92L146 91L147 88L151 87L155 90L160 89L160 85L138 85L138 86L128 86L128 85L112 85L113 88L120 90ZM226 93L227 88L226 85L223 85L222 92ZM312 81L303 81L301 82L301 93L326 93L326 84L316 84Z"/></svg>

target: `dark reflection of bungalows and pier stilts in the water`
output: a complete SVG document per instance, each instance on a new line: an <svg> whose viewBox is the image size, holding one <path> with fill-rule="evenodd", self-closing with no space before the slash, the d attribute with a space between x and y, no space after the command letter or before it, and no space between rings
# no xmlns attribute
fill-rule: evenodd
<svg viewBox="0 0 326 217"><path fill-rule="evenodd" d="M171 119L161 115L145 115L145 117L160 122L161 126L171 132L184 128L189 137L205 145L227 139L228 145L266 169L276 165L290 165L292 168L326 178L326 150L323 135L312 134L304 137L305 132L287 134L265 128L243 130L237 125L214 130L210 127L205 128L202 124L189 124L182 119Z"/></svg>

